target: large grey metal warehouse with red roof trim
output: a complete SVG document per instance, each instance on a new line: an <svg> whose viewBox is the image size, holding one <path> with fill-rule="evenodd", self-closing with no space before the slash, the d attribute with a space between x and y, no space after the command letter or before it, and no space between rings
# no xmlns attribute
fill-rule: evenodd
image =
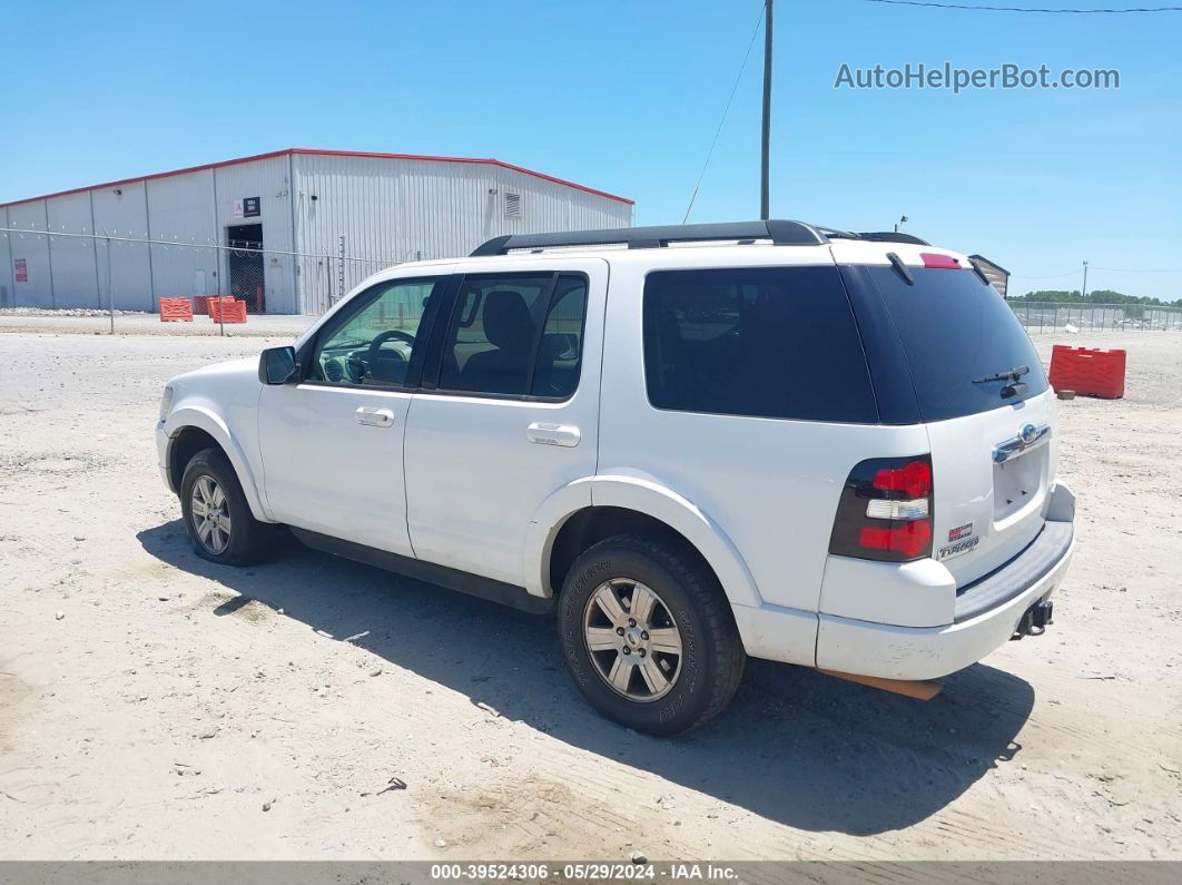
<svg viewBox="0 0 1182 885"><path fill-rule="evenodd" d="M293 148L0 204L0 306L319 313L401 261L631 222L631 200L498 160Z"/></svg>

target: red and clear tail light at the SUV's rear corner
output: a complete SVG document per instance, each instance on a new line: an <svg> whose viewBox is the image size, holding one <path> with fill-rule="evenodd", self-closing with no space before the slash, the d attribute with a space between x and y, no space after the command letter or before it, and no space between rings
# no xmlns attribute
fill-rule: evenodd
<svg viewBox="0 0 1182 885"><path fill-rule="evenodd" d="M850 471L829 552L907 562L931 555L931 458L870 458Z"/></svg>

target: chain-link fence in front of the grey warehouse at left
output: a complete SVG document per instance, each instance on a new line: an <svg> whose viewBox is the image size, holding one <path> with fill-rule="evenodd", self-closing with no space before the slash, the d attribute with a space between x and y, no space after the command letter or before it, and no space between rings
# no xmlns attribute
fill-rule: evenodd
<svg viewBox="0 0 1182 885"><path fill-rule="evenodd" d="M345 236L324 252L267 248L261 234L214 242L0 227L0 307L155 312L162 298L233 295L248 313L320 314L366 276L424 258L355 254Z"/></svg>

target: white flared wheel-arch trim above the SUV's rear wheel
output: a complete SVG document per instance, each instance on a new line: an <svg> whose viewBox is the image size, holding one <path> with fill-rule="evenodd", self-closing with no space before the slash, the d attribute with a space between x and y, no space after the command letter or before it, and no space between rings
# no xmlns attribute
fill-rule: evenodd
<svg viewBox="0 0 1182 885"><path fill-rule="evenodd" d="M644 477L603 475L578 480L553 493L530 522L525 545L526 590L553 596L550 553L563 525L589 507L621 507L661 520L683 535L706 558L732 605L759 606L755 580L726 532L694 503Z"/></svg>

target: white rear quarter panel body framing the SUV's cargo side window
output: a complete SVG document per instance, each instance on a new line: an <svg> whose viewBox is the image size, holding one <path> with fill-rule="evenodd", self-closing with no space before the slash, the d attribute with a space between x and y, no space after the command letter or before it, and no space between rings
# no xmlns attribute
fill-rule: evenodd
<svg viewBox="0 0 1182 885"><path fill-rule="evenodd" d="M764 604L816 612L850 469L869 457L927 453L927 430L655 409L645 389L642 340L649 272L831 265L832 259L824 247L654 253L625 253L612 261L598 473L631 475L684 497L738 549ZM733 603L742 604L727 590Z"/></svg>

